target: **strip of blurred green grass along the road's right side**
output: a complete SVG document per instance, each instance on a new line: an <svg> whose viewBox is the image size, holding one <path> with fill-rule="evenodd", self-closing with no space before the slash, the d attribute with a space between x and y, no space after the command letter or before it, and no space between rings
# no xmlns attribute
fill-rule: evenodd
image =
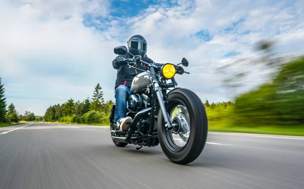
<svg viewBox="0 0 304 189"><path fill-rule="evenodd" d="M304 126L234 126L232 123L208 122L209 131L304 136Z"/></svg>

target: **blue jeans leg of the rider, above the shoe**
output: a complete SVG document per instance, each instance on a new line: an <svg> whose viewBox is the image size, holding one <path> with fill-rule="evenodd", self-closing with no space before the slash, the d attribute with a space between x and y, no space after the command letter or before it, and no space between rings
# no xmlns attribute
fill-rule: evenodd
<svg viewBox="0 0 304 189"><path fill-rule="evenodd" d="M115 114L114 121L117 123L120 119L127 116L127 98L130 96L130 89L124 85L120 85L115 90Z"/></svg>

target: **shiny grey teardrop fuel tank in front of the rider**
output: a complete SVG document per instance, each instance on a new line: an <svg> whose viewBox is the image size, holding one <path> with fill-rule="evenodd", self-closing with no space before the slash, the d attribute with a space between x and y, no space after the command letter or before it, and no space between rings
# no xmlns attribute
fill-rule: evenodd
<svg viewBox="0 0 304 189"><path fill-rule="evenodd" d="M142 94L147 92L148 86L152 83L149 72L144 71L135 76L131 85L131 94Z"/></svg>

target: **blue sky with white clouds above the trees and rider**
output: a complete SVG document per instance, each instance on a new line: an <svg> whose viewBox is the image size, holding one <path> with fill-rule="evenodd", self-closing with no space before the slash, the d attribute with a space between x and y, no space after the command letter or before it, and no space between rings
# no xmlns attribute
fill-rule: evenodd
<svg viewBox="0 0 304 189"><path fill-rule="evenodd" d="M97 83L114 100L113 48L141 34L156 62L189 60L191 74L177 76L180 87L203 101L230 100L237 92L221 86L215 69L254 56L252 45L263 38L278 41L280 52L303 52L303 18L300 0L5 0L0 77L21 114L43 116L68 98L82 101ZM241 91L264 81L267 71L253 71Z"/></svg>

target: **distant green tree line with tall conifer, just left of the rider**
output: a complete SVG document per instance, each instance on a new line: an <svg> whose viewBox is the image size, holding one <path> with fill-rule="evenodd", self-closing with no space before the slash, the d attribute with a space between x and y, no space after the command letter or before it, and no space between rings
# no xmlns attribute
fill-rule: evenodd
<svg viewBox="0 0 304 189"><path fill-rule="evenodd" d="M79 123L79 124L108 124L113 101L104 101L102 87L98 83L92 98L82 102L68 99L63 104L50 106L44 115L46 122Z"/></svg>

